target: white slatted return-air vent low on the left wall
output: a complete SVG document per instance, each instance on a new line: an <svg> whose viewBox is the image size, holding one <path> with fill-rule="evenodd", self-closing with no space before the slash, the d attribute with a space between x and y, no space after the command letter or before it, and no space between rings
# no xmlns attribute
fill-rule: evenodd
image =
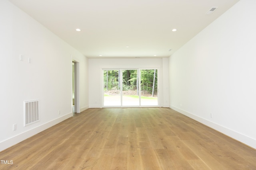
<svg viewBox="0 0 256 170"><path fill-rule="evenodd" d="M24 101L24 126L39 121L39 100Z"/></svg>

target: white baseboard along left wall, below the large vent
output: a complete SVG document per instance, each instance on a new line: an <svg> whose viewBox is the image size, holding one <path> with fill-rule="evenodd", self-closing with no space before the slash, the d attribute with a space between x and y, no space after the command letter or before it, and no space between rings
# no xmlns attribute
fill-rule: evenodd
<svg viewBox="0 0 256 170"><path fill-rule="evenodd" d="M62 117L58 117L57 119L54 119L38 127L30 129L26 132L20 133L19 135L11 137L10 139L6 139L5 141L0 142L0 151L5 150L13 145L16 145L17 143L20 143L21 141L24 141L25 139L28 139L29 137L32 137L37 133L40 133L45 129L48 129L49 127L52 127L53 125L56 125L72 116L73 116L73 113L68 113Z"/></svg>

